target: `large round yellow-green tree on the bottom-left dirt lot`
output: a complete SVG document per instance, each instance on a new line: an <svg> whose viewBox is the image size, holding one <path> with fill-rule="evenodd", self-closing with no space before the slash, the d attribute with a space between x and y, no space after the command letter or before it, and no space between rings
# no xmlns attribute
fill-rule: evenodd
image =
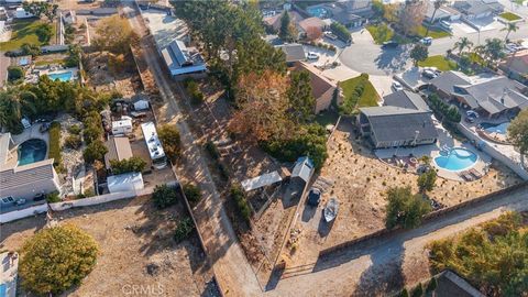
<svg viewBox="0 0 528 297"><path fill-rule="evenodd" d="M22 286L38 295L58 295L80 284L96 266L98 252L94 238L73 224L42 229L22 248Z"/></svg>

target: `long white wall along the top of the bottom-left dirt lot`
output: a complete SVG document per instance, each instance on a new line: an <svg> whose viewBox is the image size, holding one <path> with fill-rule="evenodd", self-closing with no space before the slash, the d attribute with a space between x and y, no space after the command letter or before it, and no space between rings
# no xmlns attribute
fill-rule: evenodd
<svg viewBox="0 0 528 297"><path fill-rule="evenodd" d="M56 204L43 204L38 206L24 208L21 210L14 210L14 211L1 213L0 223L7 223L14 220L32 217L38 213L44 213L47 211L48 206L54 211L63 211L74 207L96 206L96 205L107 204L116 200L134 198L136 196L150 195L152 194L152 190L153 190L152 187L150 187L150 188L145 188L138 191L121 191L121 193L94 196L94 197L78 199L78 200L70 200L70 201L56 202Z"/></svg>

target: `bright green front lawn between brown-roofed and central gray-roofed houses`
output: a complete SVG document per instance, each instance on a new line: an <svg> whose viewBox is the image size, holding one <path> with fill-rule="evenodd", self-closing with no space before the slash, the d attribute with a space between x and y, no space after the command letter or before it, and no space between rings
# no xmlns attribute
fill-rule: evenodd
<svg viewBox="0 0 528 297"><path fill-rule="evenodd" d="M359 84L364 84L364 89L360 98L354 96L355 89ZM377 107L380 95L376 89L365 76L358 76L351 79L339 82L339 86L343 89L343 107L344 109L352 111L360 107Z"/></svg>

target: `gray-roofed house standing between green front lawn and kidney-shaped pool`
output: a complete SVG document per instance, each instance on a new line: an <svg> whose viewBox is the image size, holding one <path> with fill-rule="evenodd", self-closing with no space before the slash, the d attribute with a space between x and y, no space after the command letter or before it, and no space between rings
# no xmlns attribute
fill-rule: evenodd
<svg viewBox="0 0 528 297"><path fill-rule="evenodd" d="M431 110L407 90L385 96L383 107L360 108L356 125L375 148L432 144L438 139Z"/></svg>

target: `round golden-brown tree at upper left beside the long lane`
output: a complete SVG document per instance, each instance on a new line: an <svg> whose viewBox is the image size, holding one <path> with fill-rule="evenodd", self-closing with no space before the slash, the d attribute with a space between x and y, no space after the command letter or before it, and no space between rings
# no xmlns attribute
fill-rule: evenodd
<svg viewBox="0 0 528 297"><path fill-rule="evenodd" d="M114 54L129 53L130 44L138 41L129 21L118 14L100 20L97 23L96 35L94 45L99 51Z"/></svg>

